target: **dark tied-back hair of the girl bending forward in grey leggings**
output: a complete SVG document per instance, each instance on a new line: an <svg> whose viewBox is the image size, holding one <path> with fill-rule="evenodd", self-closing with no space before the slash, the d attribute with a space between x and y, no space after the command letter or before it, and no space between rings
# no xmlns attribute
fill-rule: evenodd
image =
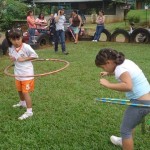
<svg viewBox="0 0 150 150"><path fill-rule="evenodd" d="M113 60L117 65L120 65L125 60L125 55L111 48L104 48L99 51L95 58L96 66L105 65L107 60Z"/></svg>

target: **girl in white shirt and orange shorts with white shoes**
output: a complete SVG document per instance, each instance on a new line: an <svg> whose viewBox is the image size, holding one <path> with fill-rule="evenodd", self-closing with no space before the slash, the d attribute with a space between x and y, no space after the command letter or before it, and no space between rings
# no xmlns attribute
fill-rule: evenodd
<svg viewBox="0 0 150 150"><path fill-rule="evenodd" d="M34 77L19 77L34 75L31 60L38 58L38 55L30 45L22 42L22 31L18 28L6 32L6 39L9 44L9 56L14 62L14 74L16 75L16 88L20 102L13 107L27 107L27 111L18 119L23 120L33 115L32 102L29 92L34 90Z"/></svg>

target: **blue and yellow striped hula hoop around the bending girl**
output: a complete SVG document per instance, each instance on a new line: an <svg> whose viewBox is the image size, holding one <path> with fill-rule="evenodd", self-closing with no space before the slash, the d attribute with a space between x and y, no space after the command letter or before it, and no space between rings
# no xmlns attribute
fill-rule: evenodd
<svg viewBox="0 0 150 150"><path fill-rule="evenodd" d="M146 105L146 104L134 104L134 103L131 103L130 100L126 100L126 99L96 98L96 100L100 101L100 102L104 102L104 103L128 105L128 106L135 106L135 107L149 107L150 108L150 105Z"/></svg>

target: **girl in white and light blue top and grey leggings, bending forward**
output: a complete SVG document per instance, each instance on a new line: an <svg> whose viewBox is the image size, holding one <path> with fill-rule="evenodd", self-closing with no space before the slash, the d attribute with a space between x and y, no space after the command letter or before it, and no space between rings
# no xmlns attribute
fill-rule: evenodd
<svg viewBox="0 0 150 150"><path fill-rule="evenodd" d="M132 103L150 105L150 85L145 75L133 61L125 59L123 53L110 48L102 49L96 56L95 64L106 71L100 73L101 85L112 90L126 92L127 98ZM111 83L103 78L112 74L119 83ZM129 106L123 117L121 137L111 136L111 142L122 146L123 150L133 150L132 131L148 113L150 113L149 108Z"/></svg>

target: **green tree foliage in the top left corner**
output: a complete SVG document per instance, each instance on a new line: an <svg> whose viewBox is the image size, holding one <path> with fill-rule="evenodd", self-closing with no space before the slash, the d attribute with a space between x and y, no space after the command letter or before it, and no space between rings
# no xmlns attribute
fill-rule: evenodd
<svg viewBox="0 0 150 150"><path fill-rule="evenodd" d="M0 0L0 28L7 30L13 27L14 20L26 18L28 7L26 4L14 0Z"/></svg>

